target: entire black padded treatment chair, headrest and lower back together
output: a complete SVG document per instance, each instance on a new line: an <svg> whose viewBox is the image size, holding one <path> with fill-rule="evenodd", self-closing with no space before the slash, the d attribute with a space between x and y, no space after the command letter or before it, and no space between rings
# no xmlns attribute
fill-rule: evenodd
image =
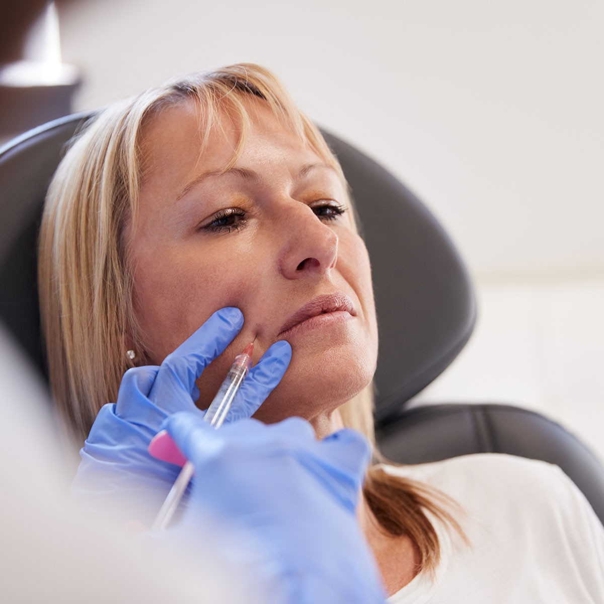
<svg viewBox="0 0 604 604"><path fill-rule="evenodd" d="M50 122L0 149L0 320L43 375L37 229L63 147L91 115ZM324 134L352 187L373 266L380 342L375 418L384 455L400 463L479 452L549 461L574 481L604 522L604 468L557 423L510 405L405 408L471 335L472 285L448 236L422 203L376 162Z"/></svg>

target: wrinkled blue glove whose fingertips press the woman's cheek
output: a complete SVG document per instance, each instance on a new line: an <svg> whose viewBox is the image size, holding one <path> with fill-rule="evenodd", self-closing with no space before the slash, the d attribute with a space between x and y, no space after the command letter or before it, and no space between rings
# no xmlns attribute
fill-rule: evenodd
<svg viewBox="0 0 604 604"><path fill-rule="evenodd" d="M239 309L217 310L161 367L129 369L117 403L104 405L80 451L82 461L72 484L72 498L112 518L149 525L178 476L179 467L147 452L166 417L198 411L196 379L239 333ZM288 368L288 342L273 344L251 368L225 422L251 416ZM186 497L185 497L186 500Z"/></svg>

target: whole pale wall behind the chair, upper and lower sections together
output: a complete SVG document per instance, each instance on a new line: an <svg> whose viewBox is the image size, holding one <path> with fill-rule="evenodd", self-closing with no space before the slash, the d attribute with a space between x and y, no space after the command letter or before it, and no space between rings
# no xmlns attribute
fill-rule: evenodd
<svg viewBox="0 0 604 604"><path fill-rule="evenodd" d="M600 451L604 419L604 3L103 0L61 15L79 109L237 61L442 220L481 315L419 400L545 411Z"/></svg>

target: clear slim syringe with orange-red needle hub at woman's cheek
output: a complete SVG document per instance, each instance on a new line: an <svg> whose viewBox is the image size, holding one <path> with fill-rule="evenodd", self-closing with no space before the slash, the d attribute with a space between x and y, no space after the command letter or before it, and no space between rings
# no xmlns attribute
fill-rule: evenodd
<svg viewBox="0 0 604 604"><path fill-rule="evenodd" d="M210 422L210 426L214 426L214 428L222 426L222 422L225 420L226 414L228 414L231 404L248 374L249 365L252 362L252 352L254 352L254 342L248 344L243 352L235 357L225 381L222 382L220 389L214 396L214 400L205 412L204 420ZM180 474L174 481L172 489L170 489L155 521L151 525L151 530L163 530L170 523L194 471L195 467L191 461L187 461L182 466Z"/></svg>

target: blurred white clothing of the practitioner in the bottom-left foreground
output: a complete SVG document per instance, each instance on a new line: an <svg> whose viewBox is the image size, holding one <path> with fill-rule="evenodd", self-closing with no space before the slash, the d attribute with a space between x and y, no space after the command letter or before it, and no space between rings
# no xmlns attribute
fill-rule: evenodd
<svg viewBox="0 0 604 604"><path fill-rule="evenodd" d="M1 325L0 384L2 602L263 601L242 571L217 565L210 528L195 527L202 548L169 535L154 544L69 503L71 476L43 382Z"/></svg>

